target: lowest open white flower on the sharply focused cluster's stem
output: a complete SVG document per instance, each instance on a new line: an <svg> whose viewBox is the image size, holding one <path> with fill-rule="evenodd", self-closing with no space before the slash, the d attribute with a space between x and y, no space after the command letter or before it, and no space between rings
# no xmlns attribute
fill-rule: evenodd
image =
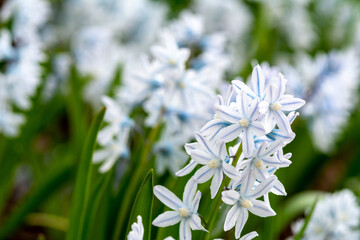
<svg viewBox="0 0 360 240"><path fill-rule="evenodd" d="M263 196L273 187L275 176L271 176L255 189L250 187L235 187L232 190L222 192L222 200L228 205L232 205L226 215L224 230L228 231L235 226L235 237L240 238L241 231L248 219L249 212L260 217L274 216L276 213L266 202L256 200Z"/></svg>

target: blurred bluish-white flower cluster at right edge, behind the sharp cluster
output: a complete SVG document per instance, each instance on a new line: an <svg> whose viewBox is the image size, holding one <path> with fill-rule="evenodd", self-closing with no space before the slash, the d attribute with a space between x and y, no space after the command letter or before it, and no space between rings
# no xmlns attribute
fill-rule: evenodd
<svg viewBox="0 0 360 240"><path fill-rule="evenodd" d="M359 59L354 51L319 54L315 59L298 57L295 67L283 66L289 90L306 99L302 109L314 145L323 152L333 149L357 102Z"/></svg>

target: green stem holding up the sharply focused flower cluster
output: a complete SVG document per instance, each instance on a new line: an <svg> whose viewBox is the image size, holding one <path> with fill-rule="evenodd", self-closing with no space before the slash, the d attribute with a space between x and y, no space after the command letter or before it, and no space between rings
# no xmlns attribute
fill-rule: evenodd
<svg viewBox="0 0 360 240"><path fill-rule="evenodd" d="M236 154L235 154L235 159L233 161L233 164L235 166L236 166L237 162L239 161L241 152L242 152L242 148L241 148L241 146L239 146L239 148L238 148L238 150L236 151ZM223 181L223 184L221 185L220 190L227 187L229 185L229 183L230 183L230 178L226 178ZM216 195L215 199L214 199L214 204L212 205L211 215L210 215L210 218L209 218L209 221L208 221L208 223L209 223L208 232L205 233L205 237L204 237L205 240L210 239L211 232L214 229L215 220L216 220L217 214L219 213L219 209L221 207L221 204L222 204L221 193L218 193Z"/></svg>

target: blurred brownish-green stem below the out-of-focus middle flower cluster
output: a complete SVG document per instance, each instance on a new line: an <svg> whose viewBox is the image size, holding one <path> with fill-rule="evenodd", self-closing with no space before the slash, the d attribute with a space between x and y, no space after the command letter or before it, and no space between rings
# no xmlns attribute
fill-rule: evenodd
<svg viewBox="0 0 360 240"><path fill-rule="evenodd" d="M161 123L163 120L164 113L165 113L165 111L162 110L155 127L151 130L148 141L145 142L145 147L141 153L139 163L136 166L135 172L131 178L130 186L125 191L124 201L121 205L121 209L123 209L123 211L125 211L126 214L124 212L122 212L122 214L120 214L118 216L117 224L116 224L116 228L115 228L116 230L113 235L113 240L119 239L122 228L124 228L123 229L124 231L126 230L127 224L125 224L125 220L128 217L127 213L131 210L131 204L133 203L136 190L138 189L138 186L140 185L140 182L142 180L141 176L143 176L148 171L147 160L150 155L152 146L156 140L156 136L158 135L158 133L161 129Z"/></svg>

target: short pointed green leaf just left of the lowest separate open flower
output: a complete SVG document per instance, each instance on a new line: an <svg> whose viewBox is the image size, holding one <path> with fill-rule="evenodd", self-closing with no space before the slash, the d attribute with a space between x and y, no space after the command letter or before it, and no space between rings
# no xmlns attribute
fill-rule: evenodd
<svg viewBox="0 0 360 240"><path fill-rule="evenodd" d="M126 234L129 233L131 225L137 222L137 216L142 217L144 225L144 240L150 240L151 236L151 221L152 221L152 209L154 201L154 170L151 169L146 175L141 187L136 195L134 205L131 210L131 215L128 222ZM120 209L121 211L121 209Z"/></svg>

